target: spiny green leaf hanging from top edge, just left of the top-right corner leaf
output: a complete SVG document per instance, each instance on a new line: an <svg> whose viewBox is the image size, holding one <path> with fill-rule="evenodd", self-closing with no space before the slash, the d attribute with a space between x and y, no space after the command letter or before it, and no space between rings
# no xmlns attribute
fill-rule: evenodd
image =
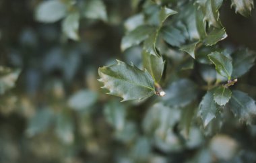
<svg viewBox="0 0 256 163"><path fill-rule="evenodd" d="M197 0L201 11L203 11L203 21L207 21L210 26L216 28L222 28L219 16L220 13L218 9L222 5L223 0Z"/></svg>

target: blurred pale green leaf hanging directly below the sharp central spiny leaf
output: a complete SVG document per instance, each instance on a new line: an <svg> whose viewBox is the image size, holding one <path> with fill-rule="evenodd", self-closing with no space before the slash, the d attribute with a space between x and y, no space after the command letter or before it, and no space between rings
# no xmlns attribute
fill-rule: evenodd
<svg viewBox="0 0 256 163"><path fill-rule="evenodd" d="M104 106L104 115L106 121L110 123L115 129L123 130L125 127L125 106L118 101L110 101Z"/></svg>

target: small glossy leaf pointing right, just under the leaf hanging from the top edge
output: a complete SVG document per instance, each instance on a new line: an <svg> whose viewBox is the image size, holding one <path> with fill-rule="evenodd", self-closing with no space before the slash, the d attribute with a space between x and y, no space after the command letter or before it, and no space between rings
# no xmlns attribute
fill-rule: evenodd
<svg viewBox="0 0 256 163"><path fill-rule="evenodd" d="M224 28L214 28L211 32L207 33L205 38L202 40L203 44L207 46L213 46L217 42L224 40L228 35Z"/></svg>

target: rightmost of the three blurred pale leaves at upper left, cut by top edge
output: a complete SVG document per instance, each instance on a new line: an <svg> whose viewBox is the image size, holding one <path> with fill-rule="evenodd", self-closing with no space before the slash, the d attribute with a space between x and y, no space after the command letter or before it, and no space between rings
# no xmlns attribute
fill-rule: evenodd
<svg viewBox="0 0 256 163"><path fill-rule="evenodd" d="M101 0L86 1L84 16L89 19L107 20L106 7Z"/></svg>

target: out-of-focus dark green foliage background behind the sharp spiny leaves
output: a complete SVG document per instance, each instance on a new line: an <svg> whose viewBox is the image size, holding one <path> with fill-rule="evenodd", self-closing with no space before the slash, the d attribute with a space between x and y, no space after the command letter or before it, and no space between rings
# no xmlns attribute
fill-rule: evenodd
<svg viewBox="0 0 256 163"><path fill-rule="evenodd" d="M0 162L256 161L255 125L239 123L230 113L216 117L205 129L196 119L191 123L190 115L199 103L196 93L187 101L173 95L183 88L179 83L194 88L182 76L200 77L175 48L169 47L166 56L174 64L181 60L183 64L179 75L169 74L168 82L174 83L163 100L167 105L155 103L156 98L120 103L119 98L104 95L97 81L99 66L112 64L115 58L141 66L141 48L121 52L120 45L125 29L137 27L141 18L125 20L139 13L143 3L0 1ZM256 50L255 11L245 18L230 8L230 1L224 1L220 19L228 34L222 45ZM253 66L236 86L253 99L255 70ZM212 81L211 75L201 73ZM190 103L193 100L197 105ZM224 125L218 119L226 119Z"/></svg>

